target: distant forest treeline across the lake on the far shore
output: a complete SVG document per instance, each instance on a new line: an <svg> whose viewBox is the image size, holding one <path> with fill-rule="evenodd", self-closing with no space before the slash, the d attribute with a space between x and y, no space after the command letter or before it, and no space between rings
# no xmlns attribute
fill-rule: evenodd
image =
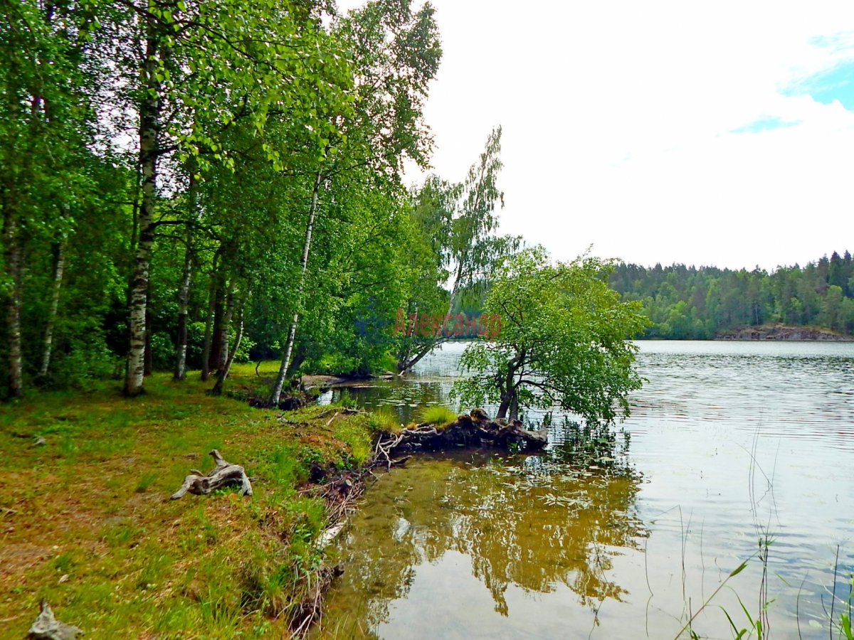
<svg viewBox="0 0 854 640"><path fill-rule="evenodd" d="M767 323L854 335L854 262L847 251L771 273L621 264L611 274L611 287L643 304L654 323L646 338L706 340Z"/></svg>

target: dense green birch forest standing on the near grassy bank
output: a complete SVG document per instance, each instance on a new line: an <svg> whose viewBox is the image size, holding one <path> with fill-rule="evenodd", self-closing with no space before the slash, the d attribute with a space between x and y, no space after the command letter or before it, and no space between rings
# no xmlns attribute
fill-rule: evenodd
<svg viewBox="0 0 854 640"><path fill-rule="evenodd" d="M458 182L428 167L429 3L3 3L3 389L233 361L403 369L396 311L457 308L496 235L500 128ZM384 335L383 333L383 335ZM213 384L213 382L212 382Z"/></svg>

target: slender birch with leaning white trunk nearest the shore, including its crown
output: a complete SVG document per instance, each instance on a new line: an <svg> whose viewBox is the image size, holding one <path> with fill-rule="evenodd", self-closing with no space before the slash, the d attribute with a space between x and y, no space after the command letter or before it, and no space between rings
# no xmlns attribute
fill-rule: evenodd
<svg viewBox="0 0 854 640"><path fill-rule="evenodd" d="M324 183L342 179L363 167L393 183L399 180L405 157L424 164L430 148L422 113L428 85L436 74L442 54L430 3L425 3L417 12L412 12L409 0L367 3L340 20L334 32L341 38L358 70L354 79L357 100L349 117L331 110L327 112L340 134L330 139L326 153L311 170L313 180L295 311L270 393L269 401L273 405L279 402L290 370ZM330 153L333 150L334 153Z"/></svg>

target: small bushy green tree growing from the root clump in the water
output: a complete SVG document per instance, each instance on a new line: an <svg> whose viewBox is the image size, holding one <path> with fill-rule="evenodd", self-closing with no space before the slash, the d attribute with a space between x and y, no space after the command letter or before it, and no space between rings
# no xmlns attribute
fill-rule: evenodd
<svg viewBox="0 0 854 640"><path fill-rule="evenodd" d="M589 256L553 264L541 248L508 259L484 305L500 315L500 335L465 350L460 364L473 375L454 384L453 396L498 404L496 417L510 420L554 406L588 422L627 416L628 395L641 385L628 339L648 321L640 304L608 287L612 269Z"/></svg>

